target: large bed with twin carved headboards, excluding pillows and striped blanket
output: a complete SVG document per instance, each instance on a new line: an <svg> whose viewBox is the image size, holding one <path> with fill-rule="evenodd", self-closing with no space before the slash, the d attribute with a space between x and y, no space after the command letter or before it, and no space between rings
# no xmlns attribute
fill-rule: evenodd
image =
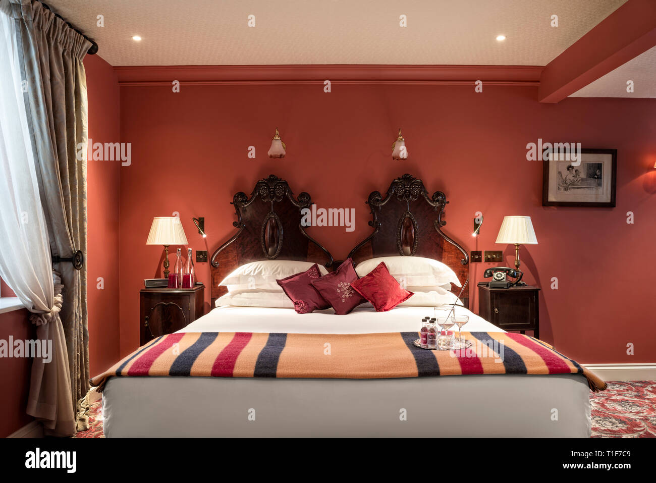
<svg viewBox="0 0 656 483"><path fill-rule="evenodd" d="M226 291L218 283L240 265L261 259L312 261L327 268L331 254L306 234L295 197L274 175L250 196L234 196L237 233L219 247L213 265L213 304ZM402 255L449 264L462 284L466 251L443 232L447 201L429 197L421 180L395 179L386 194L367 200L371 234L349 256L359 262ZM458 291L458 288L453 288ZM468 331L500 332L467 308ZM447 306L438 314L446 314ZM292 308L220 306L181 333L254 332L367 334L411 332L434 307L398 306L375 312L361 305L346 316L332 309L297 314ZM107 437L589 437L590 402L581 374L453 375L394 379L276 377L110 377L103 392Z"/></svg>

